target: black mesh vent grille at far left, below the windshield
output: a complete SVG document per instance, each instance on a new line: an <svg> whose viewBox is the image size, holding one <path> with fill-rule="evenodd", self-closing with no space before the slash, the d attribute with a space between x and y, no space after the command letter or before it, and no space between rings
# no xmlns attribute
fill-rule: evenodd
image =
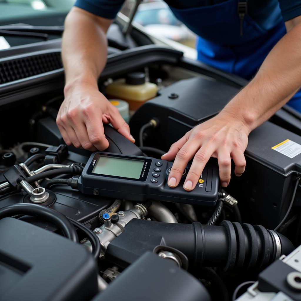
<svg viewBox="0 0 301 301"><path fill-rule="evenodd" d="M0 84L62 68L61 53L51 52L0 62Z"/></svg>

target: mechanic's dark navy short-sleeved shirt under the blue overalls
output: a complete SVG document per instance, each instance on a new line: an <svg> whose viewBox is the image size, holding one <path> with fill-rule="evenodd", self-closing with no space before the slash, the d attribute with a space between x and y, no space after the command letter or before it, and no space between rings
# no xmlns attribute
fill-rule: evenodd
<svg viewBox="0 0 301 301"><path fill-rule="evenodd" d="M165 0L173 8L185 9L213 5L226 0ZM77 0L75 6L107 19L114 19L125 0ZM248 14L262 28L265 28L266 17L280 6L284 21L301 15L301 0L248 0ZM279 14L279 20L281 20Z"/></svg>

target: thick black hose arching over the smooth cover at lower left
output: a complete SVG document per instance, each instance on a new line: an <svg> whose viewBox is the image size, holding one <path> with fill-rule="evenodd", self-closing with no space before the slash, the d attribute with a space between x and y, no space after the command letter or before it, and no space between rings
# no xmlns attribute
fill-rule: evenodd
<svg viewBox="0 0 301 301"><path fill-rule="evenodd" d="M21 203L5 206L0 209L0 219L19 214L45 219L46 221L56 225L63 232L65 237L74 242L78 242L76 230L70 221L62 213L51 208L38 204Z"/></svg>

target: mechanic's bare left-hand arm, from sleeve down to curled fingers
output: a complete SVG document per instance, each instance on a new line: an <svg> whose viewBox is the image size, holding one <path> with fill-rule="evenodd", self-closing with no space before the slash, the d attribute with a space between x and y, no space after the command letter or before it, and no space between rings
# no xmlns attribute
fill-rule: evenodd
<svg viewBox="0 0 301 301"><path fill-rule="evenodd" d="M111 22L77 7L72 8L65 21L65 99L57 115L57 126L66 144L91 151L104 150L109 145L102 122L111 123L135 142L116 107L98 90L98 76L107 60L106 32Z"/></svg>

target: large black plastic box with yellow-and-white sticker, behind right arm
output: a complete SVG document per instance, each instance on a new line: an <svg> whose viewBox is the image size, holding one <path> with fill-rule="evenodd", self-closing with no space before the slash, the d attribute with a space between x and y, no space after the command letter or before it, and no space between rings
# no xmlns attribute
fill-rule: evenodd
<svg viewBox="0 0 301 301"><path fill-rule="evenodd" d="M144 145L167 151L194 126L218 114L237 92L237 88L202 77L178 81L137 110L130 122L132 134L137 138L141 126L155 117L159 126L146 130ZM244 221L272 229L282 220L296 175L301 173L297 144L301 145L299 135L270 122L250 133L246 171L237 178L233 170L227 188L239 201ZM298 198L297 191L296 205L301 203Z"/></svg>

